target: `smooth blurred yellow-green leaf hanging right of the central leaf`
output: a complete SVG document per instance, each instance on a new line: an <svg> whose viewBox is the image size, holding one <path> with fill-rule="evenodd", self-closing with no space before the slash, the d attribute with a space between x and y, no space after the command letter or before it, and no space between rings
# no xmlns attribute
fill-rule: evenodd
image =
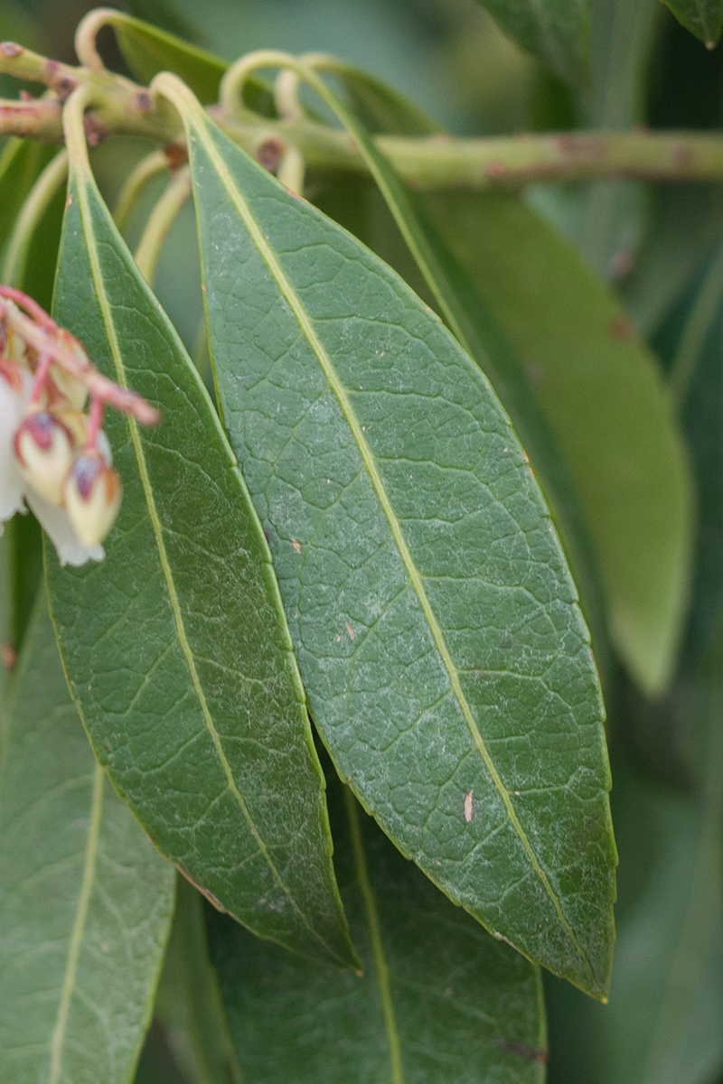
<svg viewBox="0 0 723 1084"><path fill-rule="evenodd" d="M572 473L618 650L645 689L659 691L688 595L693 487L655 359L525 204L460 193L427 206L522 360Z"/></svg>

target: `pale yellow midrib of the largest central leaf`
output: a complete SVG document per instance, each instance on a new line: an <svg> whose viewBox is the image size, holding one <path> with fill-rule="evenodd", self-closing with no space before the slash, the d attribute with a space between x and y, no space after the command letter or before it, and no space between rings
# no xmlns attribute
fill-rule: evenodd
<svg viewBox="0 0 723 1084"><path fill-rule="evenodd" d="M439 625L439 623L437 621L437 618L436 618L436 616L434 614L434 610L431 608L431 604L429 603L429 599L427 597L427 593L426 593L424 584L422 582L422 578L419 576L419 572L417 571L417 568L416 568L416 566L414 564L412 555L411 555L411 553L409 551L409 547L406 545L406 540L404 539L404 535L402 533L401 527L400 527L399 521L397 519L396 513L395 513L393 508L391 507L391 503L390 503L389 498L387 495L387 492L386 492L386 489L384 487L384 482L382 480L382 477L380 477L380 475L378 473L376 463L374 461L374 456L373 456L372 451L369 448L366 439L365 439L365 437L363 435L361 424L360 424L358 417L354 414L354 411L353 411L353 409L351 406L351 403L349 402L348 396L346 393L346 389L341 385L341 382L339 380L339 378L338 378L338 376L336 374L336 370L334 369L334 365L332 363L331 358L328 357L328 354L326 353L326 350L324 349L323 345L321 344L320 339L318 338L317 333L315 333L314 328L311 325L311 321L309 320L309 317L307 315L306 310L304 309L304 306L301 305L301 301L300 301L300 299L298 298L298 296L296 294L296 291L294 289L294 287L292 286L291 282L287 280L286 275L284 274L284 271L283 271L281 264L279 263L279 261L277 261L274 253L272 251L271 246L267 242L266 237L263 236L263 233L259 229L256 220L254 219L254 216L251 215L250 209L249 209L246 201L244 199L244 197L242 196L241 192L236 188L236 185L234 183L234 180L233 180L233 177L231 176L231 173L230 173L230 171L229 171L229 169L228 169L228 167L227 167L223 158L221 157L221 155L217 151L217 149L216 149L214 142L211 141L211 139L206 134L205 127L203 127L203 126L198 127L196 130L198 132L198 136L199 136L203 144L204 144L206 153L208 154L209 158L212 160L214 166L215 166L215 168L216 168L219 177L221 178L221 181L222 181L223 186L225 188L225 190L227 190L227 192L229 194L230 199L232 201L232 203L236 207L236 209L237 209L237 211L238 211L238 214L240 214L240 216L241 216L241 218L242 218L242 220L244 222L244 225L248 230L248 232L249 232L249 234L251 236L251 240L254 241L254 243L257 246L257 248L258 248L261 257L263 258L267 267L269 268L269 271L271 272L274 281L276 282L276 285L279 286L279 289L280 289L282 296L284 297L284 299L286 300L286 304L288 305L288 307L291 308L292 312L294 313L294 317L296 318L296 321L299 324L299 327L301 328L301 332L304 333L307 341L309 343L309 346L311 347L311 349L313 350L314 354L319 359L319 363L320 363L320 365L322 367L324 376L326 377L326 379L327 379L327 382L330 384L330 387L332 388L334 395L336 396L336 399L337 399L337 401L339 403L339 406L341 408L341 412L343 412L343 414L344 414L344 416L345 416L345 418L347 421L347 424L349 425L349 428L352 431L354 440L357 441L357 444L359 447L359 450L360 450L360 453L361 453L364 466L365 466L365 468L366 468L366 470L367 470L367 473L370 475L372 485L374 487L374 491L375 491L375 493L377 495L379 504L382 505L384 514L385 514L385 516L387 518L387 521L389 524L392 538L393 538L393 540L395 540L395 542L397 544L397 547L399 550L400 556L402 558L402 563L404 564L404 567L406 569L406 573L408 573L408 576L410 578L410 582L411 582L411 584L412 584L412 586L414 589L414 592L415 592L415 594L416 594L416 596L417 596L417 598L419 601L419 604L422 606L424 616L425 616L425 618L427 620L427 623L429 625L429 629L431 631L431 635L432 635L432 638L435 641L435 645L437 647L437 650L439 651L439 655L440 655L440 657L441 657L441 659L442 659L442 661L444 663L444 668L447 669L448 676L450 679L450 684L452 686L452 692L454 693L454 696L455 696L455 698L456 698L456 700L457 700L457 702L460 705L460 708L461 708L462 713L464 715L465 722L467 723L467 726L469 727L469 731L472 733L475 746L476 746L478 752L480 753L480 756L482 758L482 761L485 762L485 766L487 767L487 771L489 772L490 778L492 779L492 783L494 784L494 787L495 787L498 793L500 795L500 797L502 799L502 802L504 804L505 812L507 814L509 823L512 824L513 828L515 829L515 833L517 834L517 837L518 837L519 841L521 842L521 844L522 844L522 847L525 849L525 853L527 854L527 856L528 856L528 859L530 861L530 864L531 864L534 873L540 878L540 881L542 882L542 886L543 886L545 892L547 893L547 895L548 895L548 898L550 898L550 900L551 900L551 902L553 904L553 907L555 909L555 914L557 915L557 918L558 918L558 921L559 921L560 926L563 927L563 929L567 933L567 935L568 935L571 944L576 949L578 955L580 956L580 958L583 960L583 963L585 964L586 968L589 969L591 979L593 980L593 982L595 982L595 980L594 980L594 973L593 973L592 967L590 965L590 962L589 962L585 953L583 952L581 945L578 943L578 939L574 935L574 931L572 930L570 924L568 922L567 918L563 914L563 908L560 906L560 902L557 899L557 895L556 895L555 891L553 890L552 885L550 883L550 879L548 879L546 873L544 872L544 869L540 865L540 862L538 861L538 856L535 855L534 851L532 850L532 846L531 846L529 839L527 838L525 829L522 828L522 826L521 826L521 824L519 822L519 818L517 817L517 814L515 812L515 809L514 809L514 805L513 805L513 802L512 802L512 798L509 797L509 792L507 791L507 788L505 787L504 783L502 782L502 778L500 777L500 774L499 774L499 772L498 772L498 770L496 770L496 767L494 765L494 762L492 761L492 758L491 758L491 756L489 753L489 750L488 750L488 748L487 748L487 746L485 744L485 739L482 738L481 734L479 733L479 728L477 726L477 722L476 722L475 717L473 714L473 711L472 711L472 709L469 707L469 704L467 702L467 698L464 695L464 691L462 689L462 685L460 683L460 675L459 675L459 673L456 671L456 667L454 666L454 661L453 661L453 659L452 659L452 657L450 655L449 648L448 648L447 643L444 641L444 635L443 635L442 630L441 630L441 628L440 628L440 625Z"/></svg>

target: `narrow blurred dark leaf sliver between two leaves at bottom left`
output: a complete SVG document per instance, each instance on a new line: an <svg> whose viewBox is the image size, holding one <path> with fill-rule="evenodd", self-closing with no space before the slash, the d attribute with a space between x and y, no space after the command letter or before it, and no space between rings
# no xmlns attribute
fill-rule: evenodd
<svg viewBox="0 0 723 1084"><path fill-rule="evenodd" d="M255 944L256 938L249 935L249 941ZM241 1084L218 979L208 959L202 898L183 877L155 1016L189 1084Z"/></svg>

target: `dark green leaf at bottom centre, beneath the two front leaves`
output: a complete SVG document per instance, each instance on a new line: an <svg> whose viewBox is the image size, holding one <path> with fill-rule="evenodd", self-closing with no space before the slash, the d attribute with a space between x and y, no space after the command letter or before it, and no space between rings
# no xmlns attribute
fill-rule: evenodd
<svg viewBox="0 0 723 1084"><path fill-rule="evenodd" d="M330 784L330 803L363 979L284 957L209 914L244 1079L542 1084L538 968L436 892L341 789Z"/></svg>

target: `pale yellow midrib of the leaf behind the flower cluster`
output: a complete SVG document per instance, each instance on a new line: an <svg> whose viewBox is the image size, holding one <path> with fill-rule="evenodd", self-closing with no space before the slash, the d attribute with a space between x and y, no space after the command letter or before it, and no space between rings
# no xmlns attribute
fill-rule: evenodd
<svg viewBox="0 0 723 1084"><path fill-rule="evenodd" d="M113 321L113 314L109 311L109 307L108 307L108 304L107 304L107 298L105 296L105 291L103 288L103 272L101 271L101 264L100 264L100 259L99 259L99 256L98 256L98 249L95 247L95 238L94 238L94 236L92 234L92 230L89 230L89 224L90 224L90 220L91 220L91 212L90 212L90 207L89 207L89 202L88 202L87 183L88 182L83 181L83 179L78 178L77 190L78 190L78 195L79 195L79 199L80 199L80 203L81 203L81 211L82 211L81 212L81 221L82 221L82 229L83 229L83 237L85 237L85 241L86 241L86 248L87 248L87 251L88 251L88 258L89 258L89 261L90 261L91 272L92 272L92 275L93 275L93 283L94 283L94 286L95 286L95 299L98 301L99 308L101 309L101 313L102 313L102 317L103 317L103 323L105 325L105 331L106 331L106 335L107 335L107 338L108 338L108 344L111 346L111 352L113 354L113 363L114 363L114 366L115 366L115 370L116 370L116 376L117 376L118 384L122 388L127 388L128 384L127 384L127 380L126 380L126 369L125 369L122 357L121 357L121 353L120 353L120 347L118 345L118 338L117 338L117 335L116 335L115 323ZM238 790L238 787L236 786L236 782L235 782L235 779L233 777L233 773L231 771L231 765L229 764L227 756L225 756L225 753L223 751L223 746L221 745L221 739L219 737L218 731L216 730L216 726L214 724L214 720L211 718L210 709L209 709L208 704L206 701L206 695L204 693L203 685L201 683L201 679L198 678L198 672L196 670L196 663L195 663L195 659L193 657L193 650L191 648L191 645L189 643L188 636L185 634L185 627L184 627L184 623L183 623L183 615L181 612L181 605L180 605L178 595L176 593L176 584L173 582L173 576L172 576L172 572L171 572L171 569L170 569L170 563L168 560L168 554L166 553L166 544L165 544L164 538L163 538L163 527L160 526L160 519L159 519L159 516L158 516L158 511L156 508L155 499L153 496L153 488L151 486L151 479L149 477L147 465L146 465L146 462L145 462L145 454L143 452L143 444L141 442L141 437L140 437L140 434L138 431L138 422L133 417L131 417L131 416L127 417L127 422L128 422L128 427L129 427L129 430L130 430L131 442L133 444L133 451L135 452L135 459L137 459L137 462L138 462L139 474L141 476L141 485L143 487L143 494L145 496L145 502L146 502L147 509L149 509L149 517L151 519L151 524L152 524L152 527L153 527L153 533L154 533L154 537L155 537L155 540L156 540L156 546L157 546L157 550L158 550L158 558L160 560L160 566L162 566L162 569L163 569L164 579L166 581L166 588L168 590L168 597L169 597L170 605L171 605L171 610L172 610L172 614L173 614L173 621L176 623L176 634L178 636L178 641L179 641L179 644L181 646L181 650L183 653L183 657L184 657L184 659L186 661L186 666L189 667L189 673L191 675L191 683L193 685L193 688L194 688L194 692L196 694L196 697L198 698L198 704L199 704L199 707L201 707L202 714L204 717L204 722L206 724L206 728L207 728L207 731L208 731L208 733L210 735L211 741L214 743L214 748L216 750L216 754L217 754L219 763L221 764L221 767L223 770L223 774L224 774L225 780L227 780L227 786L228 786L229 790L231 791L231 793L233 795L233 797L235 798L236 802L238 803L238 806L240 806L240 809L241 809L241 811L242 811L242 813L244 815L244 818L246 820L246 824L248 825L248 829L249 829L249 831L250 831L250 834L251 834L251 836L253 836L253 838L254 838L254 840L256 842L256 846L259 849L259 852L261 853L261 855L266 860L266 863L269 866L269 869L271 870L271 874L272 874L274 880L276 881L276 883L281 888L282 892L284 893L284 895L286 896L286 899L291 903L292 907L294 908L294 911L296 912L296 914L299 916L299 918L301 919L301 921L304 922L304 925L307 927L307 929L309 930L309 932L320 942L320 944L322 944L326 949L326 951L332 954L332 956L335 956L335 957L338 958L337 953L334 952L334 950L330 945L326 944L326 942L321 937L321 934L309 922L309 919L304 914L304 912L301 911L301 908L297 904L296 900L292 895L288 887L286 886L286 883L283 880L281 874L276 869L276 866L275 866L275 864L274 864L271 855L269 854L268 848L267 848L263 839L261 838L261 836L260 836L260 834L259 834L259 831L258 831L258 829L257 829L257 827L256 827L256 825L254 823L254 820L253 820L253 817L251 817L251 815L250 815L250 813L248 811L246 802L244 801L243 795L241 793L241 791Z"/></svg>

